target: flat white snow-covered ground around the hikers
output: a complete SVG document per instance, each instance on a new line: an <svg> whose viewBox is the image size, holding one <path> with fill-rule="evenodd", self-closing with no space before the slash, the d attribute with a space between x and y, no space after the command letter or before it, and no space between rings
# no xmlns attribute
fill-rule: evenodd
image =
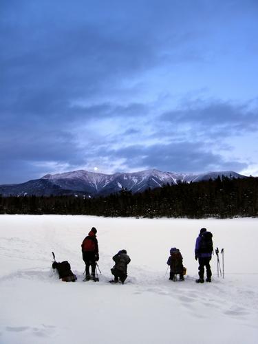
<svg viewBox="0 0 258 344"><path fill-rule="evenodd" d="M100 282L83 282L80 244L98 230ZM225 278L197 284L200 228L224 248ZM258 343L258 219L110 219L0 215L1 344ZM186 280L169 281L166 259L180 248ZM111 285L111 257L131 257L125 285ZM76 283L53 274L68 260Z"/></svg>

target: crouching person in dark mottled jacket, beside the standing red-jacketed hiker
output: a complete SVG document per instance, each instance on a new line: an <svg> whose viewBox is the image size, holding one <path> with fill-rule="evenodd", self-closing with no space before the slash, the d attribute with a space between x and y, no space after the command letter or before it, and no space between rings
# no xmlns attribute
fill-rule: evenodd
<svg viewBox="0 0 258 344"><path fill-rule="evenodd" d="M127 265L130 263L131 259L127 255L127 250L120 250L113 257L116 263L113 268L111 268L111 273L114 275L114 280L109 281L110 283L118 283L119 279L124 284L127 279Z"/></svg>

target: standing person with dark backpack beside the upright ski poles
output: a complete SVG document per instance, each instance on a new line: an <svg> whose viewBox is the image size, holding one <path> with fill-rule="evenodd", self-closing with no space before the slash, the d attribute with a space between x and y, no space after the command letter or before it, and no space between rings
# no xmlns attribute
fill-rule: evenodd
<svg viewBox="0 0 258 344"><path fill-rule="evenodd" d="M206 228L201 228L195 243L195 260L199 262L199 279L196 283L204 283L204 266L206 268L206 282L211 282L211 255L213 253L213 235Z"/></svg>

